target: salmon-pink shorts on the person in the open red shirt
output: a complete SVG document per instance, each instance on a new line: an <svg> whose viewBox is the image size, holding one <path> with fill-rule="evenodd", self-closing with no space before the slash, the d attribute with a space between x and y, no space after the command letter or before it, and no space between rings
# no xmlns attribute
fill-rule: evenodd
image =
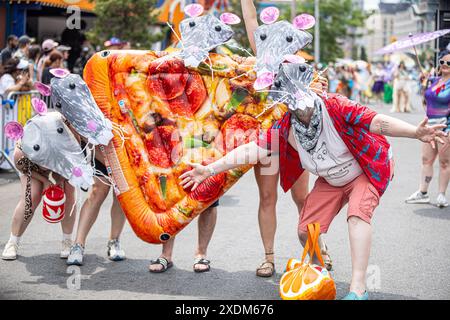
<svg viewBox="0 0 450 320"><path fill-rule="evenodd" d="M298 228L306 232L308 224L318 222L320 231L326 233L334 217L347 203L347 219L356 216L370 224L379 200L378 191L365 174L342 187L333 187L319 177L306 197Z"/></svg>

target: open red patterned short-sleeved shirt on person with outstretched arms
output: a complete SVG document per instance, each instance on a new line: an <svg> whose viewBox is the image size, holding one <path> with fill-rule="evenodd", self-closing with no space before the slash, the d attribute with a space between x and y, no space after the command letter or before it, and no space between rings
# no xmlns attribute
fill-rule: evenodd
<svg viewBox="0 0 450 320"><path fill-rule="evenodd" d="M377 113L342 95L327 94L322 99L337 132L381 196L393 176L393 162L386 138L370 132L370 124ZM285 192L304 171L298 152L288 142L290 127L288 112L258 140L260 147L279 152L280 184ZM272 136L274 133L278 135Z"/></svg>

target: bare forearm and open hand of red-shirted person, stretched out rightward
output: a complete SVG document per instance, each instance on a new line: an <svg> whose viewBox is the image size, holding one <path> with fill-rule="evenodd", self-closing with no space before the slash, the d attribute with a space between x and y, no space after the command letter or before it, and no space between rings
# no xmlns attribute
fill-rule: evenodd
<svg viewBox="0 0 450 320"><path fill-rule="evenodd" d="M390 137L405 137L419 139L422 142L429 142L434 147L435 140L444 143L441 139L447 135L442 131L446 125L427 125L428 118L425 118L417 127L384 114L377 114L370 124L370 132Z"/></svg>

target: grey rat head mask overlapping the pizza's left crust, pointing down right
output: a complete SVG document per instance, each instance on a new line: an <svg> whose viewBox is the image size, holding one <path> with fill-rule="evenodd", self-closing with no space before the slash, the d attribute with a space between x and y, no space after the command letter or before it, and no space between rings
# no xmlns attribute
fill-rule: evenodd
<svg viewBox="0 0 450 320"><path fill-rule="evenodd" d="M55 77L50 87L37 83L42 95L51 96L56 111L93 145L107 145L112 139L112 123L98 108L88 86L77 74L52 69Z"/></svg>

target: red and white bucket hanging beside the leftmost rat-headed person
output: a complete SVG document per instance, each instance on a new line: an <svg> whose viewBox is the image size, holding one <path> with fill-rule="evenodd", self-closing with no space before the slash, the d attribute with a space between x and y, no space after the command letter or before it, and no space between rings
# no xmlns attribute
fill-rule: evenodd
<svg viewBox="0 0 450 320"><path fill-rule="evenodd" d="M42 216L49 223L58 223L64 219L66 195L60 186L50 186L44 191Z"/></svg>

